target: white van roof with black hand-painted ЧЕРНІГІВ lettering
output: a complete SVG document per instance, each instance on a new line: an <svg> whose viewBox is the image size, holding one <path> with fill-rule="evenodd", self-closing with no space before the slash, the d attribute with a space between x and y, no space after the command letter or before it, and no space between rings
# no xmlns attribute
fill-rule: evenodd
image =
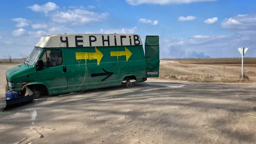
<svg viewBox="0 0 256 144"><path fill-rule="evenodd" d="M97 47L142 45L138 34L54 34L43 36L35 47Z"/></svg>

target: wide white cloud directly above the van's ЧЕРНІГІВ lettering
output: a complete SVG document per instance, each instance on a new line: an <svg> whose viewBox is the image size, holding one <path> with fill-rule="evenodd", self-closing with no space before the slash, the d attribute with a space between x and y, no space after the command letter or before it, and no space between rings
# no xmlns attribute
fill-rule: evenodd
<svg viewBox="0 0 256 144"><path fill-rule="evenodd" d="M75 9L66 12L55 12L51 15L52 21L57 23L71 23L73 25L99 22L106 19L109 13L95 13L87 10Z"/></svg>

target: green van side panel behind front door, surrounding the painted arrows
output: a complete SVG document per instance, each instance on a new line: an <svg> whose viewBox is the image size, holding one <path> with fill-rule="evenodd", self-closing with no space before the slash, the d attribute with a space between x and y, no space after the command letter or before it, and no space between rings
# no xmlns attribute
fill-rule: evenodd
<svg viewBox="0 0 256 144"><path fill-rule="evenodd" d="M95 53L95 47L66 48L67 55L67 83L68 89L73 91L83 89L93 89L100 87L109 87L121 85L125 76L134 75L143 81L146 72L146 61L141 50L142 46L112 46L96 47L103 57L98 65L97 59L77 59L76 53ZM126 61L126 55L111 56L111 52L124 53L128 49L132 54ZM95 76L94 74L104 73L105 71L113 73L106 78L106 75ZM138 75L138 76L137 76ZM142 77L142 78L141 78ZM106 78L104 80L104 78Z"/></svg>

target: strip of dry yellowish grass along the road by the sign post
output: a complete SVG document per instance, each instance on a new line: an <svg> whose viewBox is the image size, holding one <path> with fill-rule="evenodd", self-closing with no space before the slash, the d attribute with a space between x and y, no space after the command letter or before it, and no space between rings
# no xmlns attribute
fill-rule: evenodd
<svg viewBox="0 0 256 144"><path fill-rule="evenodd" d="M223 76L223 75L209 75L208 73L196 74L196 73L186 73L173 70L169 67L160 65L159 69L159 79L164 80L175 80L175 81L189 81L189 82L202 82L202 83L248 83L252 82L248 76Z"/></svg>

